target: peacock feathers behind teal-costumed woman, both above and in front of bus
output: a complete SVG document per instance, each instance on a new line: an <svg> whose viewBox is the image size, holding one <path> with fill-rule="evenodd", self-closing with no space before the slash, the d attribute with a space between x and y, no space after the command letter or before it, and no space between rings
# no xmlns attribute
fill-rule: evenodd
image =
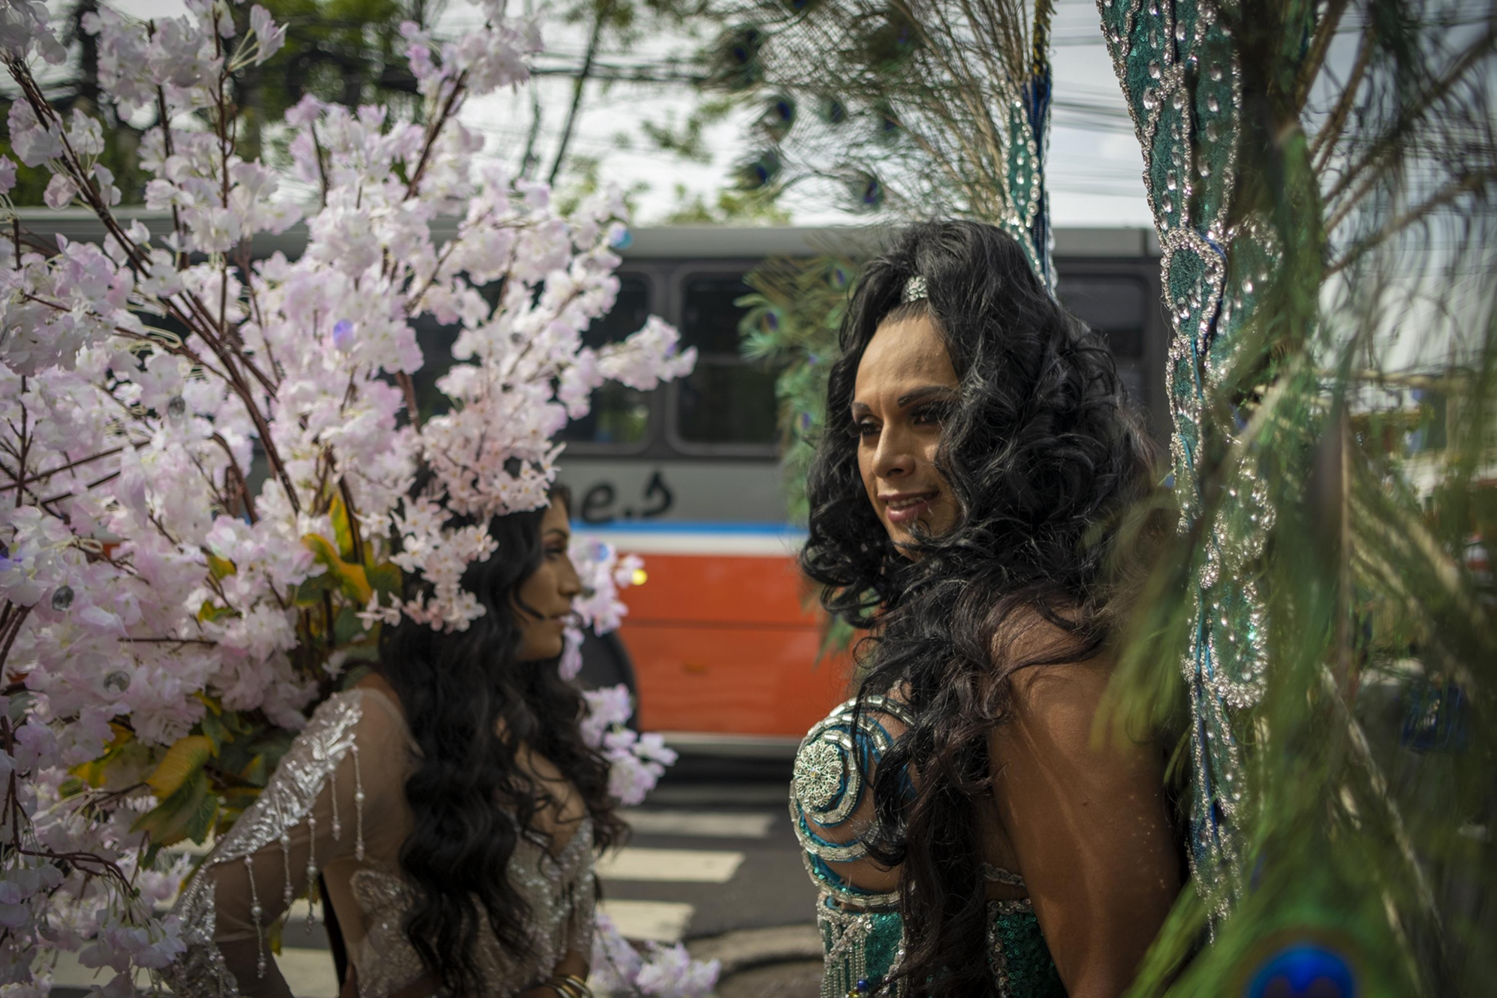
<svg viewBox="0 0 1497 998"><path fill-rule="evenodd" d="M747 187L822 184L874 218L960 214L1001 224L1054 287L1045 150L1052 0L735 4L708 78L759 109ZM868 239L754 269L746 356L781 371L792 519L820 431L825 376ZM835 639L835 636L834 636Z"/></svg>

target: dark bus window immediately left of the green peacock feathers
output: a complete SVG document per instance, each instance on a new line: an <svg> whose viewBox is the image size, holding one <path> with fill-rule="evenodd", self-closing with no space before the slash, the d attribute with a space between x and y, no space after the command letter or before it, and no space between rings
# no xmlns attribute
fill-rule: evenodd
<svg viewBox="0 0 1497 998"><path fill-rule="evenodd" d="M675 432L686 444L774 447L775 371L738 353L734 302L750 293L737 274L696 274L681 295L681 346L696 347L696 370L677 385Z"/></svg>

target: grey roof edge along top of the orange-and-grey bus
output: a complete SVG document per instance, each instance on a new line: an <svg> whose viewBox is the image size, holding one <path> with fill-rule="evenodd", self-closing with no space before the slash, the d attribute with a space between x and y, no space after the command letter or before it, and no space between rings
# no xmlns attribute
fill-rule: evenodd
<svg viewBox="0 0 1497 998"><path fill-rule="evenodd" d="M142 206L121 206L115 218L123 223L139 220L151 235L171 230L171 212ZM63 235L69 239L96 242L103 238L103 226L87 208L19 208L21 224L37 235ZM433 223L434 235L443 239L457 230L457 217L442 217ZM892 226L642 226L630 229L630 242L621 251L624 259L756 259L765 256L814 256L832 250L856 251L871 248ZM307 224L298 221L280 235L254 236L256 256L280 250L296 256L307 245ZM1057 257L1141 257L1159 256L1159 236L1153 229L1055 229Z"/></svg>

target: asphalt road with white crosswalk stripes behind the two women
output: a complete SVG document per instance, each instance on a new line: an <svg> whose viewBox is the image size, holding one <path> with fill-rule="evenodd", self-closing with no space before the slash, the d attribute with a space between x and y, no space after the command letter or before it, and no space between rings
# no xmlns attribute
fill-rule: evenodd
<svg viewBox="0 0 1497 998"><path fill-rule="evenodd" d="M633 836L599 868L603 910L624 935L677 943L811 925L816 892L790 830L789 777L789 759L678 762L626 812ZM337 995L326 932L320 917L307 925L304 907L293 908L278 962L296 998ZM82 998L111 976L64 961L52 995Z"/></svg>

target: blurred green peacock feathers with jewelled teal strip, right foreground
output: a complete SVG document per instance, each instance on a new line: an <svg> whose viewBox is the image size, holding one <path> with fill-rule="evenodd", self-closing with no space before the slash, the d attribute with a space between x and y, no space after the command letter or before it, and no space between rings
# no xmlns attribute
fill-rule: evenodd
<svg viewBox="0 0 1497 998"><path fill-rule="evenodd" d="M1180 512L1117 690L1183 730L1198 889L1135 994L1481 994L1497 15L1099 10L1163 245ZM1392 370L1410 335L1427 373ZM1439 453L1400 428L1415 383Z"/></svg>

